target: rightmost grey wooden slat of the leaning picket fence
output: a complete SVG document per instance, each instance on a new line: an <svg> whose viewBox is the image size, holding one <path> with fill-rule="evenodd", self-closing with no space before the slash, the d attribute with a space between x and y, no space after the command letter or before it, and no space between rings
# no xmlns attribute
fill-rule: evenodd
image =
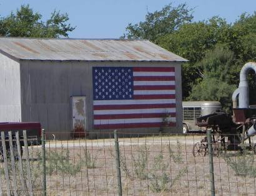
<svg viewBox="0 0 256 196"><path fill-rule="evenodd" d="M23 130L23 139L24 139L24 155L26 157L26 167L27 167L27 187L29 188L29 195L33 196L31 170L30 170L30 164L29 164L29 148L27 145L26 130Z"/></svg>

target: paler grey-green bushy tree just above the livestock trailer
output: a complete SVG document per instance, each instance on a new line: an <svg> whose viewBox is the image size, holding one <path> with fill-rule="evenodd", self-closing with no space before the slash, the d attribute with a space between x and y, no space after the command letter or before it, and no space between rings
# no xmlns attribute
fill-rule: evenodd
<svg viewBox="0 0 256 196"><path fill-rule="evenodd" d="M202 81L192 87L189 100L220 101L224 110L231 108L231 96L236 88L230 78L235 58L232 51L224 45L216 45L208 50L205 57L197 63L202 70Z"/></svg>

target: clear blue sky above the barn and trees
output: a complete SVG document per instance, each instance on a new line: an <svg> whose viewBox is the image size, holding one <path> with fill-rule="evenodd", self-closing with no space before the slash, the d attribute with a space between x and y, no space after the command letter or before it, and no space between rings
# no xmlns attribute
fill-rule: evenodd
<svg viewBox="0 0 256 196"><path fill-rule="evenodd" d="M44 21L56 9L67 12L69 23L76 26L69 37L114 39L126 32L129 23L144 21L147 12L159 11L170 2L173 6L185 2L189 8L194 8L194 21L220 16L232 23L240 14L253 14L256 10L256 0L0 0L0 15L7 16L22 4L29 4L42 14Z"/></svg>

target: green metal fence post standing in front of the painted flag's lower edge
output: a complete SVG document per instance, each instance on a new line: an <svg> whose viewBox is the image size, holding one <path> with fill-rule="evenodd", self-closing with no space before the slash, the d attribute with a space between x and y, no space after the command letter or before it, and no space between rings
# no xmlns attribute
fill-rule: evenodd
<svg viewBox="0 0 256 196"><path fill-rule="evenodd" d="M115 138L115 148L116 148L116 170L117 170L118 195L122 196L122 182L121 182L119 143L118 143L117 130L114 131L114 138Z"/></svg>

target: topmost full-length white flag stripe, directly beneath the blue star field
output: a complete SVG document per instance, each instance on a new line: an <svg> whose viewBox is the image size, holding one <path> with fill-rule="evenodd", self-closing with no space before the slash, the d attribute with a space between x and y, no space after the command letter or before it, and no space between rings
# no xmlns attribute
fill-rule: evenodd
<svg viewBox="0 0 256 196"><path fill-rule="evenodd" d="M175 103L175 99L161 99L161 100L96 100L93 105L129 105L129 104L162 104Z"/></svg>

